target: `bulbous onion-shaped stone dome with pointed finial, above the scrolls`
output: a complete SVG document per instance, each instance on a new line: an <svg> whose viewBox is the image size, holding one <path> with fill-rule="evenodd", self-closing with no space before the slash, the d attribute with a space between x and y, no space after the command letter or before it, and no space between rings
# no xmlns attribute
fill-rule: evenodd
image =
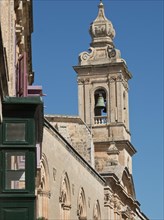
<svg viewBox="0 0 164 220"><path fill-rule="evenodd" d="M98 8L98 16L90 25L91 46L100 46L101 44L110 44L113 46L115 30L111 21L105 17L104 5L101 1Z"/></svg>

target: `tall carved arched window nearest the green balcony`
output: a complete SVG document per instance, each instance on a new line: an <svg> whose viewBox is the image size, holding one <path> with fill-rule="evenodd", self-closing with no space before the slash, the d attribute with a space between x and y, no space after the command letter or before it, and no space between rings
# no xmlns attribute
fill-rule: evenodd
<svg viewBox="0 0 164 220"><path fill-rule="evenodd" d="M49 169L46 156L42 155L41 160L41 173L40 173L40 184L38 188L38 217L42 217L45 220L48 219L48 201L50 198L49 188Z"/></svg>

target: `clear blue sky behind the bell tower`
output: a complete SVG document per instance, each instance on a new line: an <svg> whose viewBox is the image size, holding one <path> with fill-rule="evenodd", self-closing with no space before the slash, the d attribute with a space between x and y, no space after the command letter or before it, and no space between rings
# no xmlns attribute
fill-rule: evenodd
<svg viewBox="0 0 164 220"><path fill-rule="evenodd" d="M137 149L133 176L141 210L164 219L163 10L160 0L103 1L120 49L133 74L130 80L130 131ZM91 42L88 29L98 0L34 0L33 69L42 85L45 113L77 115L77 82L72 66Z"/></svg>

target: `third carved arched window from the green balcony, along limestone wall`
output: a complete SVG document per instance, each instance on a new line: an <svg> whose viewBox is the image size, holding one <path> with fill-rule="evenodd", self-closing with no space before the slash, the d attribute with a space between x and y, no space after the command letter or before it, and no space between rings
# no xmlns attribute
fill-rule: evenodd
<svg viewBox="0 0 164 220"><path fill-rule="evenodd" d="M83 188L80 188L78 202L77 202L77 215L79 220L87 219L86 199Z"/></svg>

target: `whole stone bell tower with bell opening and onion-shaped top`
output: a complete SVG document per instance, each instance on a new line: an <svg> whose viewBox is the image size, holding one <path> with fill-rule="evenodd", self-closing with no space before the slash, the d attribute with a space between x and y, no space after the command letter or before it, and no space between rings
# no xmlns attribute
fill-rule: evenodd
<svg viewBox="0 0 164 220"><path fill-rule="evenodd" d="M132 75L115 48L115 30L100 1L98 16L90 25L89 52L79 55L74 67L78 78L79 115L91 128L95 168L100 173L122 166L132 173L128 80Z"/></svg>

